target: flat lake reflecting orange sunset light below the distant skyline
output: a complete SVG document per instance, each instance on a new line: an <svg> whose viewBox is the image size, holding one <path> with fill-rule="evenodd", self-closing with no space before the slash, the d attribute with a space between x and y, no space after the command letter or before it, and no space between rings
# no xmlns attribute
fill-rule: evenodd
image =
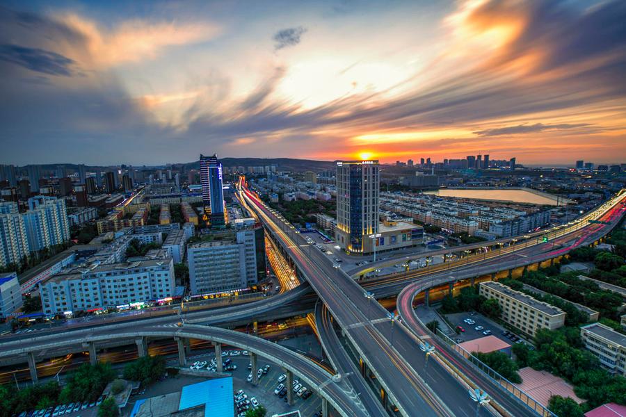
<svg viewBox="0 0 626 417"><path fill-rule="evenodd" d="M424 194L556 206L556 196L520 188L441 188L435 191L424 191ZM559 199L559 205L568 201L563 202Z"/></svg>

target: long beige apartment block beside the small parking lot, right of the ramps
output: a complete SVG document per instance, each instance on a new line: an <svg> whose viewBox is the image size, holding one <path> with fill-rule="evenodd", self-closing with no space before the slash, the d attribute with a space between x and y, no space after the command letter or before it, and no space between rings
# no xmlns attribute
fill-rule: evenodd
<svg viewBox="0 0 626 417"><path fill-rule="evenodd" d="M565 312L555 306L499 282L487 281L479 285L480 295L498 300L502 309L500 318L530 336L535 336L539 329L554 330L565 324Z"/></svg>

